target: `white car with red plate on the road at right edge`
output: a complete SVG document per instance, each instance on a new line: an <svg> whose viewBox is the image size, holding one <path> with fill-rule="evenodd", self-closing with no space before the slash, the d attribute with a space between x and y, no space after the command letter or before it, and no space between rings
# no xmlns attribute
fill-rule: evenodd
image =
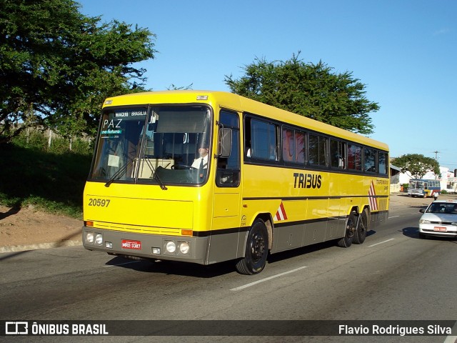
<svg viewBox="0 0 457 343"><path fill-rule="evenodd" d="M419 212L419 237L457 237L457 200L435 200Z"/></svg>

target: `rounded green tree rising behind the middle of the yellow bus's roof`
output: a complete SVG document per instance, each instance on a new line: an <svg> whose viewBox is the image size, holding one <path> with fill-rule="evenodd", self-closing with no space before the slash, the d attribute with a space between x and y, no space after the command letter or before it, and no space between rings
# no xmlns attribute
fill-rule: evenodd
<svg viewBox="0 0 457 343"><path fill-rule="evenodd" d="M361 134L373 133L368 115L378 111L365 97L365 85L351 72L334 74L319 61L306 64L293 54L288 61L255 59L240 79L225 76L233 93Z"/></svg>

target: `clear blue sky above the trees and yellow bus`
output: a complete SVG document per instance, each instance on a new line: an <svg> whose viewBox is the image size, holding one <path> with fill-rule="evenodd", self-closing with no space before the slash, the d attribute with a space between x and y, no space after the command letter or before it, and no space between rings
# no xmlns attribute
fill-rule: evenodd
<svg viewBox="0 0 457 343"><path fill-rule="evenodd" d="M298 54L365 84L371 138L391 157L423 154L457 169L456 0L80 0L80 11L149 29L154 91L229 91L256 58Z"/></svg>

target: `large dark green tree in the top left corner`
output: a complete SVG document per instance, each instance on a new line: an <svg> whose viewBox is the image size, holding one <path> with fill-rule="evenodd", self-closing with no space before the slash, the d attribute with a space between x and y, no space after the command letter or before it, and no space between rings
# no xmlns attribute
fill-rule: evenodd
<svg viewBox="0 0 457 343"><path fill-rule="evenodd" d="M0 142L27 126L93 133L106 96L140 91L154 34L73 0L0 0ZM18 125L21 124L21 125Z"/></svg>

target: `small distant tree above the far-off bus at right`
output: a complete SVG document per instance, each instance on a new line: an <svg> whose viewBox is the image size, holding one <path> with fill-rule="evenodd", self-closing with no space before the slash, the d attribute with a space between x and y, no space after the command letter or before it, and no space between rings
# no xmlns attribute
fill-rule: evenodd
<svg viewBox="0 0 457 343"><path fill-rule="evenodd" d="M435 173L435 175L440 174L438 161L422 154L402 155L392 159L392 164L400 167L402 173L409 172L415 179L422 179L428 171Z"/></svg>

